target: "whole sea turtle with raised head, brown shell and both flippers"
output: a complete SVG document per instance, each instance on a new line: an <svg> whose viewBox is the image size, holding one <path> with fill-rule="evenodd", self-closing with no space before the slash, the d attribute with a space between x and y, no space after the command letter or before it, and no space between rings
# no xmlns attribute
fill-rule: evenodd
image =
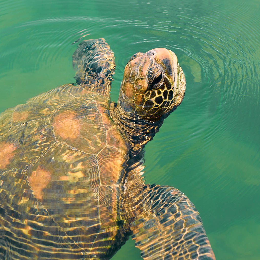
<svg viewBox="0 0 260 260"><path fill-rule="evenodd" d="M0 258L109 259L132 235L144 259L215 259L190 200L142 180L145 144L184 97L176 55L134 54L118 104L103 38L73 64L77 84L0 115Z"/></svg>

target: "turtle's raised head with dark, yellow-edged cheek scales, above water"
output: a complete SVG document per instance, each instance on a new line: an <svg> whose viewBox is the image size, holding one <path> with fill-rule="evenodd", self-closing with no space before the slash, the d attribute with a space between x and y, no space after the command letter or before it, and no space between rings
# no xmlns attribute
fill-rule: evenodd
<svg viewBox="0 0 260 260"><path fill-rule="evenodd" d="M125 113L157 121L180 105L185 85L183 71L171 50L136 53L126 64L118 103Z"/></svg>

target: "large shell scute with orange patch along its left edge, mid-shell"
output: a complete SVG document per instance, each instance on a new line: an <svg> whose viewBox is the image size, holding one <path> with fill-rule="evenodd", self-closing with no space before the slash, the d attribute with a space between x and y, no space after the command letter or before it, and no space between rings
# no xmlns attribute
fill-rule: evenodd
<svg viewBox="0 0 260 260"><path fill-rule="evenodd" d="M46 168L48 165L48 170ZM34 180L37 174L48 176L41 190ZM99 170L95 155L69 149L57 142L35 165L28 168L28 181L34 196L55 222L73 235L70 228L81 229L98 224ZM82 231L83 232L83 231ZM86 233L85 233L86 232ZM87 231L84 231L87 235Z"/></svg>

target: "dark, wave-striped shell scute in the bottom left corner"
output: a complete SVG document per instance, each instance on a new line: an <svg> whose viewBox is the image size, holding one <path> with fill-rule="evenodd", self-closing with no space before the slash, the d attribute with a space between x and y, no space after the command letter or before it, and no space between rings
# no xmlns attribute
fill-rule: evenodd
<svg viewBox="0 0 260 260"><path fill-rule="evenodd" d="M35 198L27 180L27 171L15 168L3 173L1 179L0 224L8 230L3 238L12 241L8 244L10 250L15 244L20 248L19 258L29 253L30 258L38 259L56 248L56 256L68 259L69 250L73 252L76 245ZM32 237L34 243L30 242Z"/></svg>

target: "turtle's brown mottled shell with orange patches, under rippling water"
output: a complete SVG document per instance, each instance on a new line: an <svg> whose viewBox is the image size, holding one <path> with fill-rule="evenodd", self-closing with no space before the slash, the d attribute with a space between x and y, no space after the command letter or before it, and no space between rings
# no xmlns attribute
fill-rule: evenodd
<svg viewBox="0 0 260 260"><path fill-rule="evenodd" d="M6 110L0 121L0 258L109 254L127 160L109 98L66 84Z"/></svg>

